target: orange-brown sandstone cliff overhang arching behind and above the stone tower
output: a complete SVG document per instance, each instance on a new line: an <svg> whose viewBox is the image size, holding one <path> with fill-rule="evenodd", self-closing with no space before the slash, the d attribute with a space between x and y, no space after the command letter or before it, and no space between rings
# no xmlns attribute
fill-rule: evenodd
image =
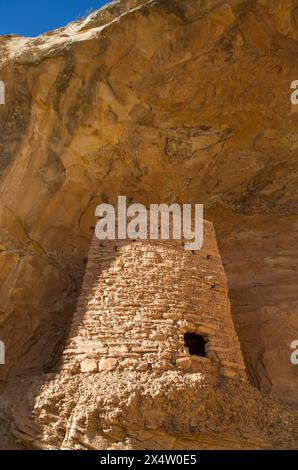
<svg viewBox="0 0 298 470"><path fill-rule="evenodd" d="M120 1L0 38L4 383L62 351L100 202L203 203L250 379L298 405L295 0Z"/></svg>

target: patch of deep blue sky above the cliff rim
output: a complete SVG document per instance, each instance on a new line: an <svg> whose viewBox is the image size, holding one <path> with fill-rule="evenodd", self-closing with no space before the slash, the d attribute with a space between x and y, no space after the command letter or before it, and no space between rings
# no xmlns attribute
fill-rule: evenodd
<svg viewBox="0 0 298 470"><path fill-rule="evenodd" d="M60 28L108 0L0 0L0 35L38 36Z"/></svg>

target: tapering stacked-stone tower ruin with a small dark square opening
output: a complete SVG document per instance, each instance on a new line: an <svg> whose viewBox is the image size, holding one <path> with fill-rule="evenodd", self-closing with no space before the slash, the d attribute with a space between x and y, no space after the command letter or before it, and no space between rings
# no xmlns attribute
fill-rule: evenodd
<svg viewBox="0 0 298 470"><path fill-rule="evenodd" d="M180 240L94 237L63 368L244 377L213 225L194 252Z"/></svg>

